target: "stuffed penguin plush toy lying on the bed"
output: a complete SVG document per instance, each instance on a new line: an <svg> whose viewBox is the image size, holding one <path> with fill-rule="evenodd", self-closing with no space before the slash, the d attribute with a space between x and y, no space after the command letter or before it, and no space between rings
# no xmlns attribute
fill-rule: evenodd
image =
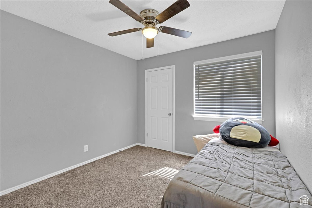
<svg viewBox="0 0 312 208"><path fill-rule="evenodd" d="M279 143L263 126L243 117L228 119L213 131L227 143L240 147L264 148Z"/></svg>

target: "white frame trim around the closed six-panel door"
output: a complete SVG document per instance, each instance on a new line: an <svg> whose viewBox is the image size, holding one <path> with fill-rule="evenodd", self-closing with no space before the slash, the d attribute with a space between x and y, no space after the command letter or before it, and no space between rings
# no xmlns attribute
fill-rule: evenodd
<svg viewBox="0 0 312 208"><path fill-rule="evenodd" d="M174 151L174 140L175 140L175 128L174 128L174 121L175 121L175 94L174 94L174 65L171 66L164 66L155 69L146 69L145 70L145 146L147 147L147 72L149 71L158 71L163 69L170 69L172 68L172 152Z"/></svg>

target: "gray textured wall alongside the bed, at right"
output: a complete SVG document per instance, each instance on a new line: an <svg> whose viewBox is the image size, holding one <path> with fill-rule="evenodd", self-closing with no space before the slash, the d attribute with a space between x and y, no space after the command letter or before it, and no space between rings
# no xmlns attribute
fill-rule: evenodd
<svg viewBox="0 0 312 208"><path fill-rule="evenodd" d="M312 192L312 1L286 1L275 31L276 134Z"/></svg>

